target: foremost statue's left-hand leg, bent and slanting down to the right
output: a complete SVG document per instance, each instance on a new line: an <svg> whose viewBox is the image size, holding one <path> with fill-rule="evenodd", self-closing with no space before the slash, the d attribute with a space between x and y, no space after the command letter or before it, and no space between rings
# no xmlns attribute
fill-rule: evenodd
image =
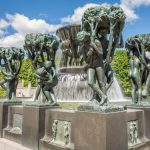
<svg viewBox="0 0 150 150"><path fill-rule="evenodd" d="M89 68L87 70L87 80L88 85L93 89L94 92L98 94L98 96L101 98L102 101L104 101L107 97L105 97L105 94L101 91L99 86L96 84L96 71L93 68Z"/></svg>

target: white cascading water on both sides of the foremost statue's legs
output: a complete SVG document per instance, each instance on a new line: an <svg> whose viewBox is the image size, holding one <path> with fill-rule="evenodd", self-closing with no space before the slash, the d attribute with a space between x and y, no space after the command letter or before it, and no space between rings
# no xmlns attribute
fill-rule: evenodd
<svg viewBox="0 0 150 150"><path fill-rule="evenodd" d="M58 101L89 101L92 98L92 90L86 81L86 74L82 73L59 73L58 85L54 88ZM107 91L110 101L124 99L117 78Z"/></svg>

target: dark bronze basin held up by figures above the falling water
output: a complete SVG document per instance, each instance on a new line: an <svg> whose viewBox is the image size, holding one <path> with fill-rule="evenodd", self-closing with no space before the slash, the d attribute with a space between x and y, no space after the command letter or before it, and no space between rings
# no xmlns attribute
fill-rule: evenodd
<svg viewBox="0 0 150 150"><path fill-rule="evenodd" d="M70 25L61 27L56 31L60 38L62 57L60 67L79 66L80 55L78 51L79 43L76 34L80 31L80 25Z"/></svg>

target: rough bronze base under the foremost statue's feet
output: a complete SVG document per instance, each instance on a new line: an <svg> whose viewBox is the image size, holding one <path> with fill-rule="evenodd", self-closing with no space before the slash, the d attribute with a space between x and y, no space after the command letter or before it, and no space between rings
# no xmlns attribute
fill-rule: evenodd
<svg viewBox="0 0 150 150"><path fill-rule="evenodd" d="M81 104L80 106L78 106L77 109L78 111L99 112L99 113L124 111L123 106L117 106L112 104L109 104L108 106L100 106L97 101L91 101L86 104Z"/></svg>

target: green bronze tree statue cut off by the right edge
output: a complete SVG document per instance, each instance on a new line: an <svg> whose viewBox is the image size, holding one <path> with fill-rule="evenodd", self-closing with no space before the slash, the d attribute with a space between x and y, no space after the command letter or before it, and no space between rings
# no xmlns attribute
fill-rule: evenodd
<svg viewBox="0 0 150 150"><path fill-rule="evenodd" d="M133 104L148 98L150 88L150 34L136 35L126 40L129 58L129 78L132 84ZM142 89L143 87L143 89ZM143 90L143 91L142 91Z"/></svg>

